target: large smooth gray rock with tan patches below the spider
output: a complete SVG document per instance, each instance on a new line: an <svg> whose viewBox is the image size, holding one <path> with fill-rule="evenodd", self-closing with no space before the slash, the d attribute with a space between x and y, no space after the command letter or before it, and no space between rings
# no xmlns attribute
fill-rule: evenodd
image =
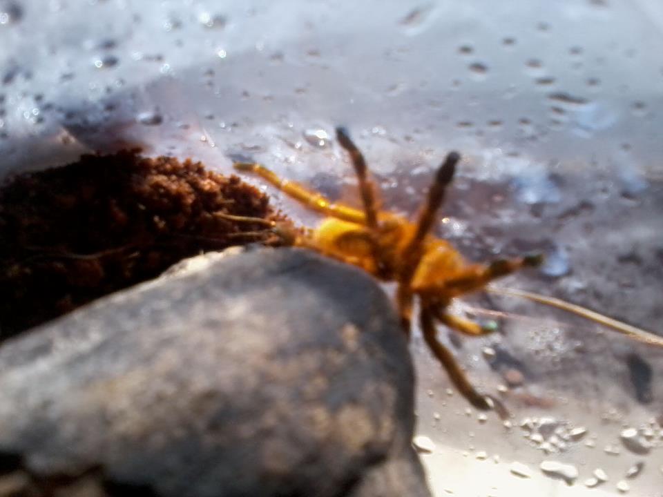
<svg viewBox="0 0 663 497"><path fill-rule="evenodd" d="M427 496L413 389L367 275L207 255L3 344L0 459L160 496Z"/></svg>

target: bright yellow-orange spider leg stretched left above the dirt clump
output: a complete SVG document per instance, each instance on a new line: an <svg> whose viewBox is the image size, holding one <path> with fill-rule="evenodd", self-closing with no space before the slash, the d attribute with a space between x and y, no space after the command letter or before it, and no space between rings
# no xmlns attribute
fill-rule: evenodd
<svg viewBox="0 0 663 497"><path fill-rule="evenodd" d="M281 179L276 173L261 164L255 162L236 162L233 164L233 167L236 168L236 170L253 173L262 177L262 179L265 179L268 183L276 186L276 188L286 195L289 195L289 197L294 198L314 211L323 213L329 217L336 217L336 219L343 221L366 224L366 215L359 209L345 204L335 204L324 195L309 190L309 188L306 188L298 182L290 181L289 179Z"/></svg>

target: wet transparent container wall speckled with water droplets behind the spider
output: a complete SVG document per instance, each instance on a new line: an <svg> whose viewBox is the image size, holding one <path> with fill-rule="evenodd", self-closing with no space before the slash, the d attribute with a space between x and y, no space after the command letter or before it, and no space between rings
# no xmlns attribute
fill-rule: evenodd
<svg viewBox="0 0 663 497"><path fill-rule="evenodd" d="M414 215L459 150L439 235L472 260L544 253L499 285L661 335L662 46L657 0L0 0L1 174L140 147L356 202L343 124ZM663 495L662 347L499 295L454 310L499 325L439 334L513 417L469 409L415 330L437 496Z"/></svg>

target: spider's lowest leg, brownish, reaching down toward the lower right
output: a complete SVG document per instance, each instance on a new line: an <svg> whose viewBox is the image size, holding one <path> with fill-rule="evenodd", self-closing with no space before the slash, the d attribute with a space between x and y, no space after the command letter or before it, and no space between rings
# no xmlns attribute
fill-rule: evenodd
<svg viewBox="0 0 663 497"><path fill-rule="evenodd" d="M465 376L463 369L461 369L451 351L439 342L433 318L434 315L430 309L422 304L419 320L421 322L423 338L430 351L432 351L433 355L441 362L444 369L446 369L458 391L477 409L481 409L482 411L494 409L500 418L508 418L509 413L501 402L496 398L483 395L483 393L477 391L470 380L468 380L468 377Z"/></svg>

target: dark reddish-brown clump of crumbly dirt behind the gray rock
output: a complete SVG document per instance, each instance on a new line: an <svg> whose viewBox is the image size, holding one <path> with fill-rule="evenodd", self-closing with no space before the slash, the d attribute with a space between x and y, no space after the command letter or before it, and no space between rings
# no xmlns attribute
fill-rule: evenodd
<svg viewBox="0 0 663 497"><path fill-rule="evenodd" d="M0 188L0 340L202 251L275 243L273 220L238 177L135 150L14 177Z"/></svg>

